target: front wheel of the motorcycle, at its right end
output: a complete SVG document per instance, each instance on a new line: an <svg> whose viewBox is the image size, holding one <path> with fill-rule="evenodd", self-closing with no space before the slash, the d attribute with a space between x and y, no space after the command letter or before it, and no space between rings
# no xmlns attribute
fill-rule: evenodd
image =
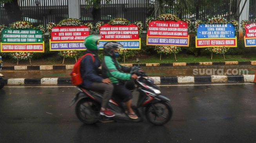
<svg viewBox="0 0 256 143"><path fill-rule="evenodd" d="M160 101L152 103L145 109L147 120L154 125L163 125L172 117L172 107L169 103Z"/></svg>

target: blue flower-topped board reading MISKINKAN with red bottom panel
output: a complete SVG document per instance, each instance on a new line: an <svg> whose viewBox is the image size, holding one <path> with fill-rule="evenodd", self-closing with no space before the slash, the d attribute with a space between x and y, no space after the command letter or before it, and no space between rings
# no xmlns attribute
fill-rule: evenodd
<svg viewBox="0 0 256 143"><path fill-rule="evenodd" d="M228 22L225 18L211 18L206 23L199 23L196 48L206 47L237 47L237 21Z"/></svg>

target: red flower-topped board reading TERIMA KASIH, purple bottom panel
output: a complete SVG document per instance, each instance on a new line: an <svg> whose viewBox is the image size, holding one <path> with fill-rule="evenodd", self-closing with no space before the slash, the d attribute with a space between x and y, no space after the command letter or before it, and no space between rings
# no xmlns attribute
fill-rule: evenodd
<svg viewBox="0 0 256 143"><path fill-rule="evenodd" d="M162 14L148 25L147 45L189 46L189 23L176 15Z"/></svg>

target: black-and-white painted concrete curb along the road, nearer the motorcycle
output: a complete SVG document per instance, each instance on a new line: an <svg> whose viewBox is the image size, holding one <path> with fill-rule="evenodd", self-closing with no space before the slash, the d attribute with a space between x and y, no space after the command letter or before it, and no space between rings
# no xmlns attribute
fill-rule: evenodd
<svg viewBox="0 0 256 143"><path fill-rule="evenodd" d="M183 83L243 83L253 82L254 75L204 75L204 76L169 76L152 77L155 84L183 84ZM11 78L6 79L7 85L72 85L70 78Z"/></svg>

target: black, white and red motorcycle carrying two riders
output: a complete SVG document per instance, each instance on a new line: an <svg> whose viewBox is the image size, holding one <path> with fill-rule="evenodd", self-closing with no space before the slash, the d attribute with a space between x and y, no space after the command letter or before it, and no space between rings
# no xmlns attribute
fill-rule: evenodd
<svg viewBox="0 0 256 143"><path fill-rule="evenodd" d="M101 122L142 122L144 116L150 123L154 125L163 125L167 123L172 117L172 107L169 104L169 98L161 94L158 86L154 84L154 80L148 77L139 66L134 66L130 72L138 75L134 80L136 87L129 89L134 95L138 96L137 105L133 108L134 112L139 117L138 119L131 119L127 115L125 105L118 102L114 97L109 100L108 107L115 114L114 117L107 118L100 115L100 103L102 101L102 93L91 89L78 87L79 93L71 101L72 106L76 103L75 113L78 119L86 124L93 124L98 121Z"/></svg>

